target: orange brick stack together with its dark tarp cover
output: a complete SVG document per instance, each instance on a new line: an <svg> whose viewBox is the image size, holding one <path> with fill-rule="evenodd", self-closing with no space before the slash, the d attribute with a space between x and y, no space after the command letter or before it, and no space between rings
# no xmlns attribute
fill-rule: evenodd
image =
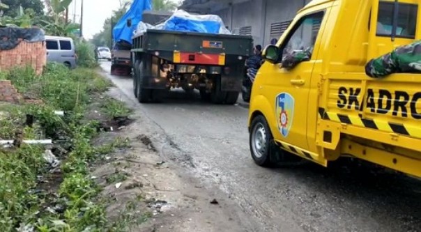
<svg viewBox="0 0 421 232"><path fill-rule="evenodd" d="M30 65L40 75L46 63L43 29L0 27L0 70Z"/></svg>

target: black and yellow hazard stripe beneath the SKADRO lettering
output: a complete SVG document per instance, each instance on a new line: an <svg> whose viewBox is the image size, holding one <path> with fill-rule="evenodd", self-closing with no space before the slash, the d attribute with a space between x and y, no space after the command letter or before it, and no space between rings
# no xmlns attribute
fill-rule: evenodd
<svg viewBox="0 0 421 232"><path fill-rule="evenodd" d="M319 116L322 119L335 121L338 123L357 125L359 127L366 127L373 130L382 130L385 132L421 138L421 127L415 127L401 123L391 123L380 119L362 118L361 114L358 116L349 116L328 112L324 108L319 108Z"/></svg>

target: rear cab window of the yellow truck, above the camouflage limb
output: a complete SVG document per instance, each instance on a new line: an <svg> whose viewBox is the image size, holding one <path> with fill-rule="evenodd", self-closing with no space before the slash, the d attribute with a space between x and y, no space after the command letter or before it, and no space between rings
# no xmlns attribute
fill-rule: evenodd
<svg viewBox="0 0 421 232"><path fill-rule="evenodd" d="M417 13L418 6L414 4L380 1L376 35L415 38Z"/></svg>

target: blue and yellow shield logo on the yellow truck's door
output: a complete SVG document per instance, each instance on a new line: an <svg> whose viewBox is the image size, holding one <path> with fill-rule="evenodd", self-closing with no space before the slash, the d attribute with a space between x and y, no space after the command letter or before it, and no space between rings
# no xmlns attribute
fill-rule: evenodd
<svg viewBox="0 0 421 232"><path fill-rule="evenodd" d="M294 115L294 98L289 93L280 93L276 97L277 129L283 137L287 137L291 129Z"/></svg>

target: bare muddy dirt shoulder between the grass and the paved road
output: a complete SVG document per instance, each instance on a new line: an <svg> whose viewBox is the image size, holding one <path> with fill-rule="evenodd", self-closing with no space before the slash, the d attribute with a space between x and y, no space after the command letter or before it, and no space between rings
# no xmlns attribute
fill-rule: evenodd
<svg viewBox="0 0 421 232"><path fill-rule="evenodd" d="M137 215L139 225L132 231L257 231L227 195L190 175L185 169L192 168L188 157L168 141L164 128L117 88L109 95L128 102L134 109L130 118L135 119L104 135L128 138L130 148L116 150L92 173L105 186L105 198L113 200L107 208L110 217ZM174 156L185 159L185 167L173 162ZM110 176L118 180L107 182Z"/></svg>

